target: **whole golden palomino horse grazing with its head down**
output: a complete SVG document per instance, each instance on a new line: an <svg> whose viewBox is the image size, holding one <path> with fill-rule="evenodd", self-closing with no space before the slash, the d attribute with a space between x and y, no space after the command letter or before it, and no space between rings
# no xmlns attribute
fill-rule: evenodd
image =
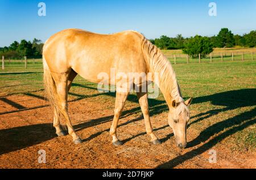
<svg viewBox="0 0 256 180"><path fill-rule="evenodd" d="M115 73L143 72L147 75L152 72L159 74L157 85L169 108L168 123L174 130L178 147L184 148L187 144L188 105L192 98L187 101L183 100L171 63L141 33L124 31L113 35L100 35L81 29L65 29L50 37L44 44L43 65L44 84L48 99L53 105L53 126L58 136L64 135L59 121L59 116L63 115L73 142L76 144L82 142L69 119L67 104L68 91L76 75L79 74L90 82L99 83L98 74L101 72L110 74L110 69L115 68ZM115 85L119 81L118 78L114 79ZM154 77L152 81L154 82ZM109 79L110 85L113 84L112 82L113 79ZM141 80L130 83L141 87L144 82ZM123 86L122 83L119 85ZM116 132L118 119L129 92L130 89L116 93L114 119L110 128L114 145L122 144ZM147 91L138 91L137 96L144 116L146 132L151 136L152 143L160 144L151 127Z"/></svg>

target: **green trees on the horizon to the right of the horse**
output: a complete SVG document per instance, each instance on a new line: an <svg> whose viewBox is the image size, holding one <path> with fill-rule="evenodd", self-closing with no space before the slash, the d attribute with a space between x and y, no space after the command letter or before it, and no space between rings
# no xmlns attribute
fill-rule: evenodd
<svg viewBox="0 0 256 180"><path fill-rule="evenodd" d="M228 28L222 28L217 36L207 37L196 35L184 38L182 35L176 37L161 36L150 40L160 49L182 49L183 53L191 57L202 57L213 52L213 48L233 48L234 46L255 47L256 31L240 35L234 35Z"/></svg>

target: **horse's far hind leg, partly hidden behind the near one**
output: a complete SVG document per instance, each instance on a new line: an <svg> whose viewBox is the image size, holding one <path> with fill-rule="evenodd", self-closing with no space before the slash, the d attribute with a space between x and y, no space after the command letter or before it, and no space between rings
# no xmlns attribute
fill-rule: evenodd
<svg viewBox="0 0 256 180"><path fill-rule="evenodd" d="M77 73L73 70L71 70L71 72L68 75L68 92L69 92L69 89L71 88L71 84L72 84L73 80L76 78L76 75L77 75ZM53 126L56 129L57 136L65 135L63 130L61 130L61 128L60 128L60 114L57 113L56 108L54 108Z"/></svg>

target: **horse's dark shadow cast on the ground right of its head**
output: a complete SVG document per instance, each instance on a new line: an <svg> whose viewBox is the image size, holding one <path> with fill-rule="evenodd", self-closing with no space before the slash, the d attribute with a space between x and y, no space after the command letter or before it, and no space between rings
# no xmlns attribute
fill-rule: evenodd
<svg viewBox="0 0 256 180"><path fill-rule="evenodd" d="M254 106L256 105L255 95L256 89L240 89L236 91L216 93L210 96L195 98L193 104L210 101L213 105L224 106L224 108L209 110L208 112L195 115L195 117L193 118L198 119L190 123L189 126L191 126L193 123L198 123L208 117L212 117L213 115L216 115L218 113L226 112L228 110L234 110L237 108L243 108L247 106ZM249 112L243 112L233 118L226 119L225 121L218 122L208 127L203 132L201 132L196 139L188 143L188 147L193 147L197 144L200 144L201 142L204 142L205 140L209 139L210 136L213 136L214 134L223 131L225 128L240 125L240 123L255 117L255 115L255 109L253 109Z"/></svg>

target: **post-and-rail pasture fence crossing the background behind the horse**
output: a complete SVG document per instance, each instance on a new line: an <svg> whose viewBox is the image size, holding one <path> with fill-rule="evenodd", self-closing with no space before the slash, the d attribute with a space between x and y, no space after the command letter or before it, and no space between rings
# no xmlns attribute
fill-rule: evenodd
<svg viewBox="0 0 256 180"><path fill-rule="evenodd" d="M254 61L256 59L256 53L252 52L228 52L228 53L210 53L208 55L199 54L197 58L191 58L188 54L176 53L176 54L166 54L166 57L171 63L182 64L182 63L212 63L212 62L233 62L233 61ZM5 70L5 57L2 56L2 70ZM24 60L24 62L23 62ZM25 56L22 59L10 59L7 64L11 65L13 63L24 63L23 67L28 68L28 64L35 65L36 62L42 62L42 59L27 59ZM31 66L31 65L30 65Z"/></svg>

